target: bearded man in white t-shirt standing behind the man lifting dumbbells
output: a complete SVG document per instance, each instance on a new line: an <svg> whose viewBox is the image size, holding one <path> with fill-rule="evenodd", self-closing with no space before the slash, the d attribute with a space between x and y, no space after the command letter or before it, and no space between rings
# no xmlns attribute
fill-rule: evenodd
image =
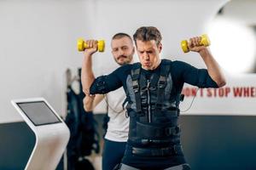
<svg viewBox="0 0 256 170"><path fill-rule="evenodd" d="M95 40L90 40L94 42ZM135 48L131 37L125 33L117 33L112 37L111 48L113 59L119 65L132 63ZM90 54L90 50L85 50L84 55ZM104 147L102 154L102 170L112 170L118 165L125 153L125 145L128 139L129 118L125 116L123 103L125 101L125 92L119 88L105 95L108 105L108 128L104 137ZM84 98L85 111L93 111L104 96L96 94L95 96L86 95Z"/></svg>

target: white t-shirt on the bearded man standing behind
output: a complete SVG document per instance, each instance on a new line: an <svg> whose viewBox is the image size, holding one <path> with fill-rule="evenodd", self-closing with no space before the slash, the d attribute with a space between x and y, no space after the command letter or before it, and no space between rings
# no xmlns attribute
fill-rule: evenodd
<svg viewBox="0 0 256 170"><path fill-rule="evenodd" d="M108 129L105 139L115 142L126 142L129 131L129 117L125 116L126 109L123 110L125 101L124 88L119 88L107 94L108 102Z"/></svg>

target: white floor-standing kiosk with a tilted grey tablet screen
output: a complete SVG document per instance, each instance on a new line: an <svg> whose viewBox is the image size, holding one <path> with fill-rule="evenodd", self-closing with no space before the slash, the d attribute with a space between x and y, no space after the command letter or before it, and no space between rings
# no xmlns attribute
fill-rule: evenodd
<svg viewBox="0 0 256 170"><path fill-rule="evenodd" d="M36 136L26 170L55 170L70 136L67 125L44 98L15 99L11 103Z"/></svg>

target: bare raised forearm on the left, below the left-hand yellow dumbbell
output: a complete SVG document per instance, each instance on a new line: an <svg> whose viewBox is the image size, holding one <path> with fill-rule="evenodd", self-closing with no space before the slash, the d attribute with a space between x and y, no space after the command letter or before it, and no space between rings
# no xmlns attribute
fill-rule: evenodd
<svg viewBox="0 0 256 170"><path fill-rule="evenodd" d="M90 86L94 82L95 77L92 71L92 54L84 54L82 72L81 72L81 81L83 86L83 92L85 95L90 94Z"/></svg>

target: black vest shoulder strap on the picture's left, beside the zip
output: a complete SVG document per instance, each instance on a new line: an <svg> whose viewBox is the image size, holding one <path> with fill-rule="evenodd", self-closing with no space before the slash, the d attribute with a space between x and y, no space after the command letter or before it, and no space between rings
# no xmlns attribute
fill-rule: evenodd
<svg viewBox="0 0 256 170"><path fill-rule="evenodd" d="M132 88L135 93L137 112L142 111L140 86L139 86L139 82L138 82L139 77L140 77L140 72L141 72L140 65L133 65L133 68L131 69L131 80L132 80Z"/></svg>

